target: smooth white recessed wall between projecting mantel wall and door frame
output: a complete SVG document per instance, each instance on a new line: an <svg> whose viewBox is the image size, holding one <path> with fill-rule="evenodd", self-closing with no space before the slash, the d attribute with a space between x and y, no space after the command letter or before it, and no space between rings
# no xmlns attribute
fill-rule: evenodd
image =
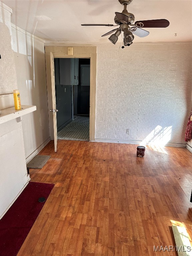
<svg viewBox="0 0 192 256"><path fill-rule="evenodd" d="M50 140L44 42L14 25L12 36L21 104L37 106L35 112L22 119L28 162Z"/></svg>

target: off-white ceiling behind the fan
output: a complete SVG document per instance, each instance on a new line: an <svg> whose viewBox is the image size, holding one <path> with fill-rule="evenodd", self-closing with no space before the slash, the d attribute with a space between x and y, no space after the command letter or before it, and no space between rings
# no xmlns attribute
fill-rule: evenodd
<svg viewBox="0 0 192 256"><path fill-rule="evenodd" d="M83 27L83 23L115 24L115 12L122 12L118 0L2 0L13 9L11 22L45 41L105 43L101 35L112 27ZM134 42L192 41L191 0L133 0L127 6L135 21L167 19L167 28L145 28L147 37ZM177 33L177 36L175 36ZM121 36L119 37L121 40ZM120 41L119 40L119 41Z"/></svg>

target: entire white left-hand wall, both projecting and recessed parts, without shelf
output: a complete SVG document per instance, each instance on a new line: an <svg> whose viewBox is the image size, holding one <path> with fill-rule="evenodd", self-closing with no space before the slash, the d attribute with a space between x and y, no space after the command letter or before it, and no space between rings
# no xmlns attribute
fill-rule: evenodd
<svg viewBox="0 0 192 256"><path fill-rule="evenodd" d="M18 88L21 105L37 111L0 125L0 218L27 184L26 161L50 139L44 42L11 29L11 11L0 2L0 94Z"/></svg>

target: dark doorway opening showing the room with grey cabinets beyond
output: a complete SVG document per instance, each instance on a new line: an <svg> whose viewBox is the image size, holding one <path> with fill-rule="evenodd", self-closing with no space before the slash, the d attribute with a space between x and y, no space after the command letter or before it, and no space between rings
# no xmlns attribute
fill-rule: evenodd
<svg viewBox="0 0 192 256"><path fill-rule="evenodd" d="M90 140L90 59L55 58L57 137Z"/></svg>

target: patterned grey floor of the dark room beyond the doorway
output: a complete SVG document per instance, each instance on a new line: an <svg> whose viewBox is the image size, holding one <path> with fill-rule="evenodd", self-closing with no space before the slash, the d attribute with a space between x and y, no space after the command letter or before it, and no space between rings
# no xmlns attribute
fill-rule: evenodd
<svg viewBox="0 0 192 256"><path fill-rule="evenodd" d="M89 140L89 116L74 115L74 120L57 132L59 140Z"/></svg>

